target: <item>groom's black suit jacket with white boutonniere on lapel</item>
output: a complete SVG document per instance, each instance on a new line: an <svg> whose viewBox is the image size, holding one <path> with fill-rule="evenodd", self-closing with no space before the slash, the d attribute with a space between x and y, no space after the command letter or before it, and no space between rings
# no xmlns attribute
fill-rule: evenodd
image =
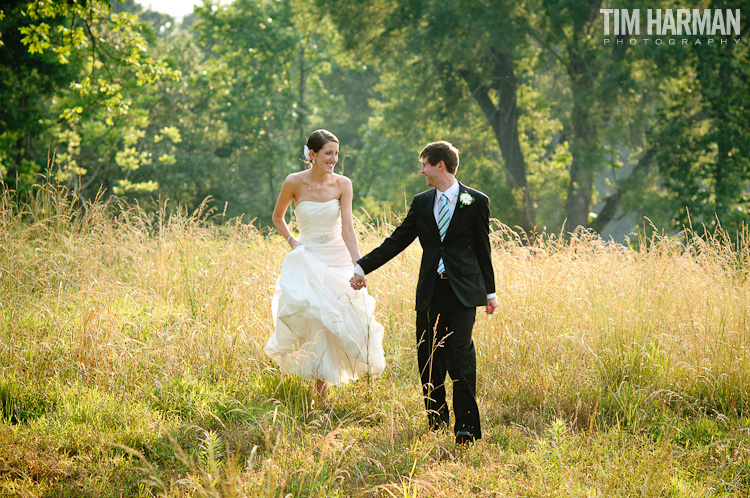
<svg viewBox="0 0 750 498"><path fill-rule="evenodd" d="M414 196L409 212L390 237L358 261L368 274L390 261L419 237L422 263L417 282L416 309L430 306L440 257L443 258L453 292L466 307L484 306L487 294L495 292L489 239L489 199L478 190L459 182L459 199L445 239L440 240L434 206L435 192L430 189ZM468 193L474 200L463 204L461 195Z"/></svg>

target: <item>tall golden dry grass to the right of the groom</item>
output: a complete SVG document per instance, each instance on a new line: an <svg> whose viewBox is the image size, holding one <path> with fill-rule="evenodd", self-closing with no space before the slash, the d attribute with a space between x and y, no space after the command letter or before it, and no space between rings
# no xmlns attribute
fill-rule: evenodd
<svg viewBox="0 0 750 498"><path fill-rule="evenodd" d="M501 309L477 338L487 391L583 427L628 416L620 395L746 415L746 242L680 234L642 237L636 250L579 232L498 243Z"/></svg>

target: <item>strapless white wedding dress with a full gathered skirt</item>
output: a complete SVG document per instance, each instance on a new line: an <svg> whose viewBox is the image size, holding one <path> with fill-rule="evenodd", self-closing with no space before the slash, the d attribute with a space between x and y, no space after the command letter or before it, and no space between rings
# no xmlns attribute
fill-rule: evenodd
<svg viewBox="0 0 750 498"><path fill-rule="evenodd" d="M301 245L281 265L273 296L275 332L264 348L284 374L346 384L385 368L375 299L349 284L353 263L341 237L338 199L302 201Z"/></svg>

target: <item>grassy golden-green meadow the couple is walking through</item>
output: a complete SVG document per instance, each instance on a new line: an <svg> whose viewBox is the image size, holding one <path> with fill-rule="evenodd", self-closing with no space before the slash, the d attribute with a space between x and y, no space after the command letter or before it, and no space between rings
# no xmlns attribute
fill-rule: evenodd
<svg viewBox="0 0 750 498"><path fill-rule="evenodd" d="M363 253L389 222L359 219ZM748 496L748 234L491 236L485 437L457 447L420 398L418 244L368 278L384 375L328 411L262 351L280 236L5 192L0 496Z"/></svg>

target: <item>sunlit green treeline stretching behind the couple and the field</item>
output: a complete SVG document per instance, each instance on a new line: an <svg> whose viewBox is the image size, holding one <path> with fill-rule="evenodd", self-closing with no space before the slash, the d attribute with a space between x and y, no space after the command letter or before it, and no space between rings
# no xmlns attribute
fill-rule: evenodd
<svg viewBox="0 0 750 498"><path fill-rule="evenodd" d="M741 229L748 23L711 44L605 45L600 8L676 8L610 3L207 1L177 23L133 0L0 1L2 182L54 180L84 205L210 196L263 226L325 127L370 216L404 210L418 151L446 139L510 226Z"/></svg>

